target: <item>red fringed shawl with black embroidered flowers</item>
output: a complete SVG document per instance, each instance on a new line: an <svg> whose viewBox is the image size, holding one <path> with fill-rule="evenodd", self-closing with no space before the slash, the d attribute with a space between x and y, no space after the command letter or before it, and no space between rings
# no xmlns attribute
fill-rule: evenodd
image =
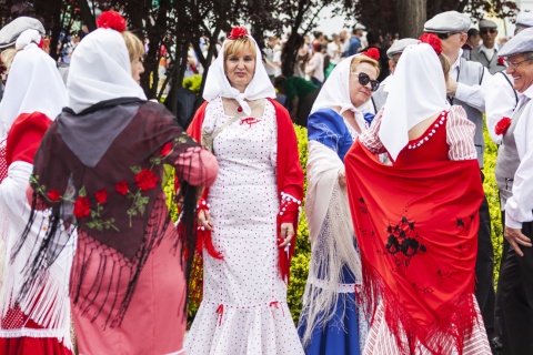
<svg viewBox="0 0 533 355"><path fill-rule="evenodd" d="M475 320L477 161L388 166L356 141L344 163L366 311L383 302L405 353L421 342L439 354L451 336L461 354Z"/></svg>

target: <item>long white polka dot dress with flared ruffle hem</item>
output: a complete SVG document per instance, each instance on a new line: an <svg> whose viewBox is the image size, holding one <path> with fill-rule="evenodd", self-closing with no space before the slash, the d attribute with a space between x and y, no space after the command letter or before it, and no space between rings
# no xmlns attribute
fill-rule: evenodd
<svg viewBox="0 0 533 355"><path fill-rule="evenodd" d="M230 119L218 98L205 108L203 129ZM203 300L185 339L188 355L303 355L278 271L276 142L270 102L255 123L237 121L214 139L219 175L208 203L213 245L224 260L203 254Z"/></svg>

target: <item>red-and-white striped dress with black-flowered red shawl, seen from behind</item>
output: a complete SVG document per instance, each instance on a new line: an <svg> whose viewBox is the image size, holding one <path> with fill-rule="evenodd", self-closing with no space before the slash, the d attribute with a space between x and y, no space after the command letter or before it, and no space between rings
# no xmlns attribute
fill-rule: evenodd
<svg viewBox="0 0 533 355"><path fill-rule="evenodd" d="M361 190L364 185L355 181L359 176L349 181L351 210L361 232L358 241L364 244L363 277L374 284L374 288L366 290L366 296L379 294L381 297L374 300L379 304L363 354L401 355L406 348L411 354L421 355L435 354L435 348L439 354L446 355L491 354L473 293L479 205L472 201L482 197L479 171L472 163L476 158L472 144L474 126L462 108L452 106L443 111L420 138L409 141L393 166L383 168L371 163L372 159L362 158L366 153L361 148L364 145L373 154L386 152L378 135L380 125L381 113L371 129L360 136L362 144L354 144L346 155L346 166L361 169L358 164L369 162L363 180L376 173L376 176L369 178L374 179L375 184L383 186L385 181L390 182L389 187L382 190L384 192L374 190L369 194ZM446 161L457 161L457 164L439 163ZM455 171L450 174L447 168ZM420 187L418 180L425 178L413 176L413 172L428 175L425 185L422 181ZM350 169L346 169L346 176L349 173ZM439 185L435 181L440 182ZM402 210L398 220L394 210L388 210L389 206L382 203L385 212L381 212L380 204L374 203L383 199L388 193L385 190L395 189L394 184L400 187L395 194L392 193L393 196L389 196L392 200L388 203L398 204ZM455 190L461 189L465 191L453 197ZM420 207L424 204L429 215L424 215ZM440 209L439 204L445 207ZM465 219L456 219L454 213L464 210L470 211ZM380 219L389 223L386 232ZM364 221L371 222L368 224ZM447 226L449 222L451 226ZM469 226L472 227L469 230ZM375 237L380 233L384 235L381 241ZM400 347L402 343L403 348Z"/></svg>

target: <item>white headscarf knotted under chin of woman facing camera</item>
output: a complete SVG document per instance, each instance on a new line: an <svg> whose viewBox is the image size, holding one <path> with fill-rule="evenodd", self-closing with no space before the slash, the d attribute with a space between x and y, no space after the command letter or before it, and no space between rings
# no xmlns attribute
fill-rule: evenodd
<svg viewBox="0 0 533 355"><path fill-rule="evenodd" d="M208 78L205 79L205 89L203 90L203 99L211 101L217 97L221 95L222 98L235 99L237 102L241 105L242 110L247 114L251 114L252 110L244 100L258 100L264 98L275 98L275 90L270 81L269 74L263 65L263 60L261 57L261 50L259 49L255 40L248 36L255 45L255 72L253 78L248 84L244 92L239 92L238 89L231 87L228 77L224 71L224 48L228 43L228 40L222 43L222 48L219 51L219 57L211 64L208 72Z"/></svg>

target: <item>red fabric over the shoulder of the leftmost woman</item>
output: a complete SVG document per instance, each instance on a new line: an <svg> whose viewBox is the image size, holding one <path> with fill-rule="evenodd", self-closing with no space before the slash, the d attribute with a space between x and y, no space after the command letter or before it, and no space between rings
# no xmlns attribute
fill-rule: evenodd
<svg viewBox="0 0 533 355"><path fill-rule="evenodd" d="M33 164L42 136L52 121L43 113L22 113L9 129L6 148L6 162L22 161Z"/></svg>

